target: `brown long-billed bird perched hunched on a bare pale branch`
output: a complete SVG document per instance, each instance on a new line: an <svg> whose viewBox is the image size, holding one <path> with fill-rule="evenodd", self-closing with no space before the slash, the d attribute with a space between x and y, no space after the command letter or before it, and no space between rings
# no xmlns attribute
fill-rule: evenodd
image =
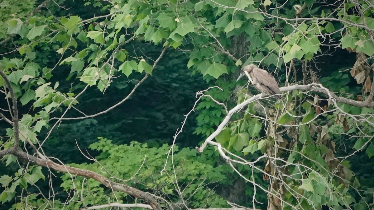
<svg viewBox="0 0 374 210"><path fill-rule="evenodd" d="M236 81L238 81L244 75L247 75L249 81L253 84L255 89L260 91L260 93L264 93L268 96L274 96L277 99L281 99L279 94L279 87L277 81L273 75L271 75L266 70L261 68L257 68L256 65L251 64L243 67L241 73Z"/></svg>

